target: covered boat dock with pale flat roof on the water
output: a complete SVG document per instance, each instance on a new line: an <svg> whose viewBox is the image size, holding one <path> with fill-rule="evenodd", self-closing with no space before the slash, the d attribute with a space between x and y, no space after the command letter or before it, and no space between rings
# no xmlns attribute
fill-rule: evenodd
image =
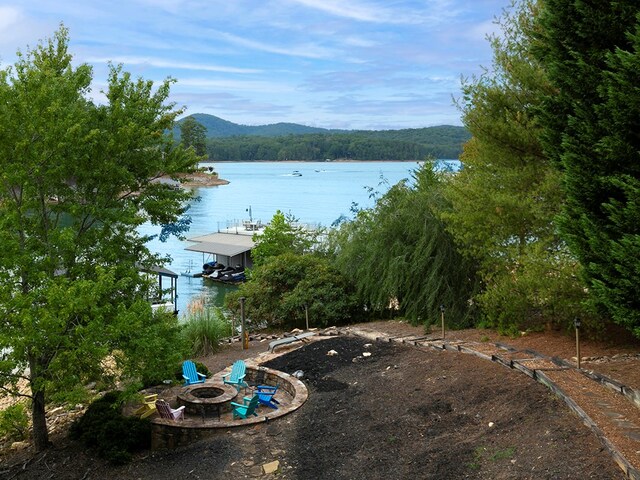
<svg viewBox="0 0 640 480"><path fill-rule="evenodd" d="M251 249L255 246L252 235L236 233L209 233L189 238L196 242L185 248L191 252L202 253L202 263L206 262L206 255L215 255L215 260L227 266L240 265L251 268Z"/></svg>

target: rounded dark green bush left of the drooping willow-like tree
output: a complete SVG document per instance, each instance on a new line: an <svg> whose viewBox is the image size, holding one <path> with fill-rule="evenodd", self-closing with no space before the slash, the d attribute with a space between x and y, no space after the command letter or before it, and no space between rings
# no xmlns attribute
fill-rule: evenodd
<svg viewBox="0 0 640 480"><path fill-rule="evenodd" d="M305 305L310 327L343 324L356 312L351 285L315 255L268 257L252 271L249 281L225 297L227 307L236 314L239 297L246 298L249 322L283 329L305 327Z"/></svg>

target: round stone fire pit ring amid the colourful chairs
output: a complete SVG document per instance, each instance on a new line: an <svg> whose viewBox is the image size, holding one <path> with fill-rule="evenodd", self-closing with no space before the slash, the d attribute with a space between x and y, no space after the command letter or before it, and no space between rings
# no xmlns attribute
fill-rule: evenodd
<svg viewBox="0 0 640 480"><path fill-rule="evenodd" d="M233 385L222 383L202 383L187 387L178 394L178 405L185 407L185 413L205 417L217 416L231 411L231 402L238 395Z"/></svg>

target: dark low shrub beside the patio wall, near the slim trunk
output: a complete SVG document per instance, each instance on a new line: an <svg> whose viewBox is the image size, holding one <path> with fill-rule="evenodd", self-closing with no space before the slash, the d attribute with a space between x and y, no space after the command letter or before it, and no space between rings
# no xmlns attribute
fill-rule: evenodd
<svg viewBox="0 0 640 480"><path fill-rule="evenodd" d="M96 400L69 429L69 436L111 463L122 465L133 453L151 447L151 422L138 417L123 417L121 395L109 392Z"/></svg>

